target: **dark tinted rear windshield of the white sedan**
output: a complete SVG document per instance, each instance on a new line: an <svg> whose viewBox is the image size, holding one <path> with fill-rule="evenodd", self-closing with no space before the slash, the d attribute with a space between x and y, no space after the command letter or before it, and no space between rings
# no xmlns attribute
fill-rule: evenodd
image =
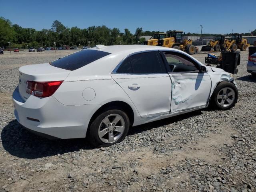
<svg viewBox="0 0 256 192"><path fill-rule="evenodd" d="M108 52L98 50L82 50L66 57L60 58L52 62L51 65L54 67L73 71L109 54L110 53Z"/></svg>

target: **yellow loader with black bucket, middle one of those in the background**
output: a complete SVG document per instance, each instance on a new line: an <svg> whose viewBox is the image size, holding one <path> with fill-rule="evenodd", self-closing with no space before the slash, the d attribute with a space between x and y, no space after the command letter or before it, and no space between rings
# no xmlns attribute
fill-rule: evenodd
<svg viewBox="0 0 256 192"><path fill-rule="evenodd" d="M225 46L225 35L216 35L213 40L210 40L209 44L202 46L201 51L220 51Z"/></svg>

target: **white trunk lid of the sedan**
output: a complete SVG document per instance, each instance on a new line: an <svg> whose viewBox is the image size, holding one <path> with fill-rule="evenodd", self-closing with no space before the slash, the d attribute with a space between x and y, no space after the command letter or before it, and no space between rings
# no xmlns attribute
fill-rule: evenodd
<svg viewBox="0 0 256 192"><path fill-rule="evenodd" d="M49 63L26 65L19 68L19 92L23 100L27 100L30 94L26 92L26 82L64 81L69 70L51 66Z"/></svg>

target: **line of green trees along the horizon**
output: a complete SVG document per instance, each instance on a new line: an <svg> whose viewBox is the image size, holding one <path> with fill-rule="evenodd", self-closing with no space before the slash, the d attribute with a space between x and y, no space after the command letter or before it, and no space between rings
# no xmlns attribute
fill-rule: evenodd
<svg viewBox="0 0 256 192"><path fill-rule="evenodd" d="M88 28L64 26L60 21L55 20L50 29L35 30L33 28L22 28L12 24L8 19L0 17L0 47L8 47L11 42L12 48L29 47L53 47L56 46L94 46L96 44L118 45L118 44L139 44L145 38L160 31L143 31L137 28L132 34L127 28L120 32L118 28L102 26L90 26ZM253 32L256 35L256 30ZM198 35L187 33L185 35ZM202 34L202 36L214 36L215 34ZM250 34L248 34L250 35Z"/></svg>

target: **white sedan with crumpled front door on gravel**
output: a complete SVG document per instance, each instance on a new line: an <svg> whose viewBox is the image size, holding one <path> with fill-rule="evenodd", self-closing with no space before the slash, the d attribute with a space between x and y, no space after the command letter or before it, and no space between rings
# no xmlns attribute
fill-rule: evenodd
<svg viewBox="0 0 256 192"><path fill-rule="evenodd" d="M20 124L95 146L122 141L130 126L209 104L226 110L238 100L232 74L159 46L98 45L19 73L13 102Z"/></svg>

